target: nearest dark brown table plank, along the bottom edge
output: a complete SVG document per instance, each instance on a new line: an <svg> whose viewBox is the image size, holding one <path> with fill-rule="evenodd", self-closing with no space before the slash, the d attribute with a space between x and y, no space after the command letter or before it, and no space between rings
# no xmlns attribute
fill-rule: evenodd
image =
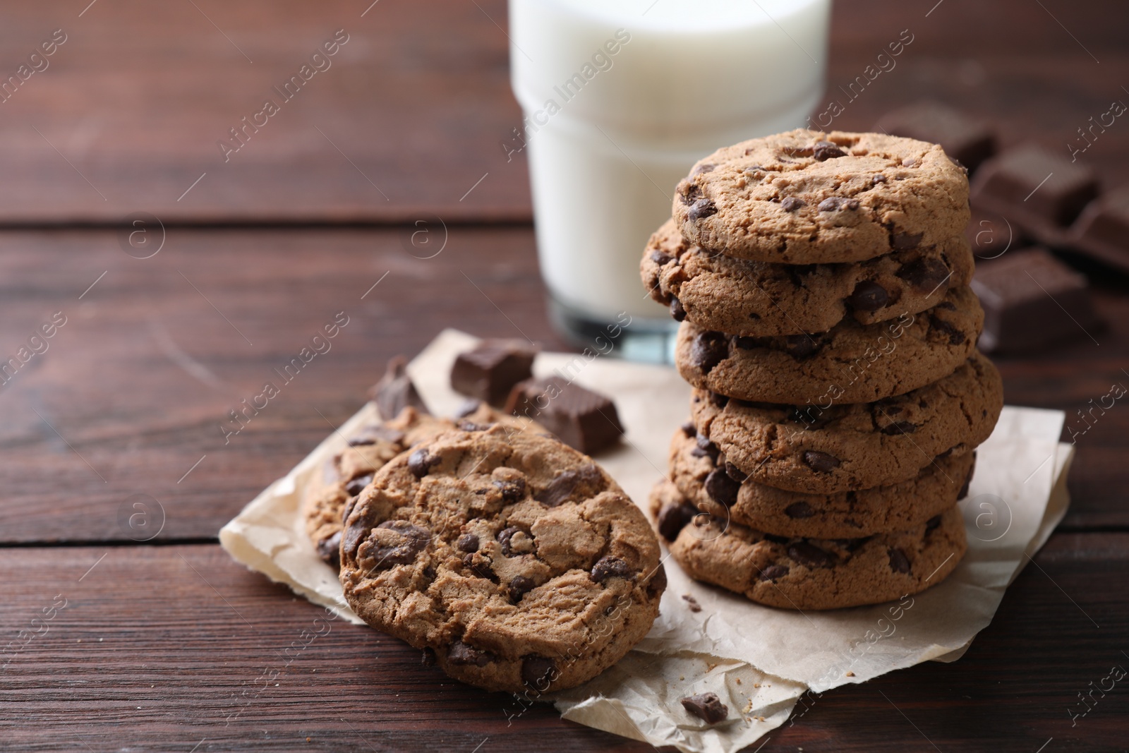
<svg viewBox="0 0 1129 753"><path fill-rule="evenodd" d="M1123 745L1123 689L1095 694L1074 727L1067 707L1129 662L1115 586L1129 577L1129 534L1057 535L1035 561L964 658L807 698L760 750ZM28 640L2 659L12 748L469 752L489 738L482 750L647 750L548 706L507 726L508 697L453 682L367 628L318 621L322 610L215 545L2 549L0 578L0 636Z"/></svg>

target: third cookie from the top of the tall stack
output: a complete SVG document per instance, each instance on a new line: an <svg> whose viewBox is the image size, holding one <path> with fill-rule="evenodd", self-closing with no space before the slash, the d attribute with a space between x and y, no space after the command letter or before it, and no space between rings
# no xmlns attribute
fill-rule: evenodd
<svg viewBox="0 0 1129 753"><path fill-rule="evenodd" d="M867 403L952 374L975 350L984 313L969 287L894 322L843 319L819 334L743 338L690 322L674 362L695 387L767 403Z"/></svg>

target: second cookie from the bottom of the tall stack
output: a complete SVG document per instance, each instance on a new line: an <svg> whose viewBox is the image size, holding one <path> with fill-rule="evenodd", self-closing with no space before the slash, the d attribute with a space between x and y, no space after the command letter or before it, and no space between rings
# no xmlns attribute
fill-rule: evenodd
<svg viewBox="0 0 1129 753"><path fill-rule="evenodd" d="M833 494L805 494L755 481L735 481L726 473L725 457L717 446L704 438L699 444L693 424L689 431L675 432L669 455L671 481L686 501L717 519L728 518L781 536L857 539L908 531L968 494L975 458L974 453L959 447L934 458L909 481ZM677 527L679 520L667 523L660 533L666 535L671 526Z"/></svg>

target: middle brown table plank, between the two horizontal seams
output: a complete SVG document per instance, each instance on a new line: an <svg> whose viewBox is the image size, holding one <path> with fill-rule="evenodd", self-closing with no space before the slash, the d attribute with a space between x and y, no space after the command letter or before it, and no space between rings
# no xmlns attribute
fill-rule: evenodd
<svg viewBox="0 0 1129 753"><path fill-rule="evenodd" d="M163 539L215 536L360 406L390 357L415 353L443 327L519 336L519 322L546 348L563 347L545 318L528 228L452 228L430 260L401 239L181 229L137 260L107 231L0 234L0 357L16 356L54 312L68 317L0 388L0 541L122 540L119 508L133 494L161 504ZM999 360L1009 403L1074 414L1129 379L1126 289L1103 290L1097 305L1110 322L1101 347L1079 338ZM332 350L283 383L273 369L342 310L349 324ZM226 437L228 411L266 380L281 394ZM1129 410L1118 404L1078 439L1068 525L1129 525L1127 436Z"/></svg>

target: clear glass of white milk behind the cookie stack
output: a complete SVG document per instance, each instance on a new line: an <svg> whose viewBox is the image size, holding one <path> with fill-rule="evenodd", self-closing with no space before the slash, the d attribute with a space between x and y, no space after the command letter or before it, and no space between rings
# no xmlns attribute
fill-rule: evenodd
<svg viewBox="0 0 1129 753"><path fill-rule="evenodd" d="M676 325L639 279L647 238L694 161L805 124L823 93L830 5L509 0L525 117L504 148L528 156L541 273L562 332L668 360Z"/></svg>

